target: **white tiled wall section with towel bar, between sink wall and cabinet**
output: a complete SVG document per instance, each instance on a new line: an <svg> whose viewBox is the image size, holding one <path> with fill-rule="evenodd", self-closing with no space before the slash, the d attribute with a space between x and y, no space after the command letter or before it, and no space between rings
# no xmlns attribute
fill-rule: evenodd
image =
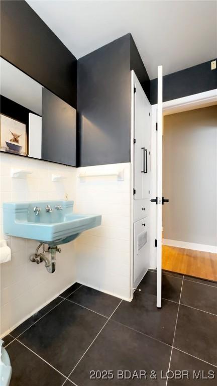
<svg viewBox="0 0 217 386"><path fill-rule="evenodd" d="M124 169L124 180L80 173ZM77 281L130 300L130 163L77 169L75 211L102 215L102 225L76 239Z"/></svg>

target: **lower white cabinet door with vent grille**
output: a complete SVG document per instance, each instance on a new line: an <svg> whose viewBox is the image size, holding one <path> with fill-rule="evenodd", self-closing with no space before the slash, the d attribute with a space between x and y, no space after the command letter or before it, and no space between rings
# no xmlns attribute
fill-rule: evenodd
<svg viewBox="0 0 217 386"><path fill-rule="evenodd" d="M134 287L149 268L149 217L134 223Z"/></svg>

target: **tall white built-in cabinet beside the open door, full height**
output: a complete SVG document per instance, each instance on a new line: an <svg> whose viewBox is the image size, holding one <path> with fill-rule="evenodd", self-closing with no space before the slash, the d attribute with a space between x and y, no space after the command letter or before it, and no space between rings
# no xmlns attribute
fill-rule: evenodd
<svg viewBox="0 0 217 386"><path fill-rule="evenodd" d="M151 105L132 71L132 137L133 162L133 216L132 253L133 288L137 288L150 267L149 208L150 208L150 151Z"/></svg>

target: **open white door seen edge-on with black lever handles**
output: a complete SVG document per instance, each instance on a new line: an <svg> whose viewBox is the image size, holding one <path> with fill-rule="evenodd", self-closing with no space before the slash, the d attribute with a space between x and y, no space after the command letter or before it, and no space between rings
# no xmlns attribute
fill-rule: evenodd
<svg viewBox="0 0 217 386"><path fill-rule="evenodd" d="M163 124L163 68L158 66L157 106L157 307L161 308L162 271L162 124Z"/></svg>

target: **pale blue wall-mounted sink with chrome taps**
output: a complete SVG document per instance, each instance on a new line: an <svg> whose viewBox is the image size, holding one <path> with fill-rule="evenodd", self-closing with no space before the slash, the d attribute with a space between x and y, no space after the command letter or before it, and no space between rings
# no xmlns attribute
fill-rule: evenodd
<svg viewBox="0 0 217 386"><path fill-rule="evenodd" d="M50 205L52 212L46 212ZM4 232L10 236L34 239L49 246L65 244L81 232L101 224L100 215L73 213L73 201L37 201L4 203ZM55 209L61 206L62 210ZM34 208L41 211L36 215Z"/></svg>

